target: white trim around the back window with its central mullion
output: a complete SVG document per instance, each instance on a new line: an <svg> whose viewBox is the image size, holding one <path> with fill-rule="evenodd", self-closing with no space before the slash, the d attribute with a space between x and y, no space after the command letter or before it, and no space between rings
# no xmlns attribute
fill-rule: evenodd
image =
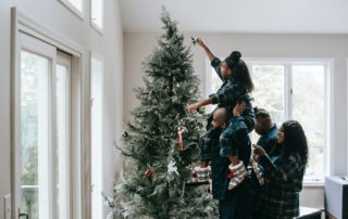
<svg viewBox="0 0 348 219"><path fill-rule="evenodd" d="M223 60L223 56L221 56L221 60ZM325 176L330 176L333 172L333 165L331 164L331 160L334 160L332 157L332 150L333 150L333 145L335 145L335 140L334 138L334 115L332 112L335 112L334 110L334 59L333 57L244 57L243 59L248 66L250 66L250 63L252 64L282 64L285 66L285 75L286 75L286 79L285 79L285 90L287 92L286 96L288 96L288 94L290 93L290 89L288 88L290 83L286 82L289 78L289 64L290 65L315 65L315 64L324 64L326 66L326 73L325 73L325 86L326 86L326 91L325 91L325 95L326 95L326 108L325 108L325 114L326 114L326 127L328 128L326 132L326 137L325 137L325 149L324 149L324 162L325 162ZM211 62L209 61L209 59L206 59L206 69L207 69L207 74L206 74L206 96L208 96L209 94L211 94L212 90L211 90ZM348 59L347 59L347 72L348 72ZM291 86L291 85L290 85ZM291 104L289 103L287 100L291 100L286 98L286 105L285 105L285 111L286 111L286 118L290 118L289 115L290 112L288 111L288 105ZM206 110L207 112L207 110ZM348 134L347 134L348 136ZM348 155L347 155L348 157ZM347 167L348 168L348 167ZM320 180L320 181L315 181L315 180L306 180L303 181L303 186L323 186L324 185L324 179Z"/></svg>

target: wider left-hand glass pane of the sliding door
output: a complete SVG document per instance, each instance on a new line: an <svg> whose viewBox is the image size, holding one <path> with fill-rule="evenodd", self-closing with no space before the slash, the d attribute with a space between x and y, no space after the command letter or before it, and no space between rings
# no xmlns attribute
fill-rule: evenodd
<svg viewBox="0 0 348 219"><path fill-rule="evenodd" d="M21 52L21 208L29 218L48 215L49 60Z"/></svg>

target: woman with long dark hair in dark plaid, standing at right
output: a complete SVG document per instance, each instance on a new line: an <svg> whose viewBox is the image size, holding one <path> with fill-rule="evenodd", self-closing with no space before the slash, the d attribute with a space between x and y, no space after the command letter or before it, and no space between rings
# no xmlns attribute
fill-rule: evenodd
<svg viewBox="0 0 348 219"><path fill-rule="evenodd" d="M260 219L290 219L299 215L299 192L308 162L301 125L295 120L284 123L278 130L277 143L281 154L272 158L259 145L253 151L265 179L256 207Z"/></svg>

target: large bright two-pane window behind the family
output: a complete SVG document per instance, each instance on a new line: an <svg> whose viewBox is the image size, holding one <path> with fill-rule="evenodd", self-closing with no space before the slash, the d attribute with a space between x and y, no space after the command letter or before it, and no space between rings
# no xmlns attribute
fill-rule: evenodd
<svg viewBox="0 0 348 219"><path fill-rule="evenodd" d="M245 60L254 83L253 106L270 112L279 127L288 119L298 120L306 132L309 145L309 164L304 181L322 182L330 167L326 162L330 149L330 70L331 62ZM221 80L213 68L208 81L214 92ZM210 72L211 73L211 72ZM256 143L259 136L251 134Z"/></svg>

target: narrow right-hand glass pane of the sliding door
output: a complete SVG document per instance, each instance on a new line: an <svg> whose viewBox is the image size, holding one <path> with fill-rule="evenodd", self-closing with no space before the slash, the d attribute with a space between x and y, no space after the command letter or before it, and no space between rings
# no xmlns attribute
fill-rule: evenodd
<svg viewBox="0 0 348 219"><path fill-rule="evenodd" d="M69 69L57 65L57 218L69 218Z"/></svg>

